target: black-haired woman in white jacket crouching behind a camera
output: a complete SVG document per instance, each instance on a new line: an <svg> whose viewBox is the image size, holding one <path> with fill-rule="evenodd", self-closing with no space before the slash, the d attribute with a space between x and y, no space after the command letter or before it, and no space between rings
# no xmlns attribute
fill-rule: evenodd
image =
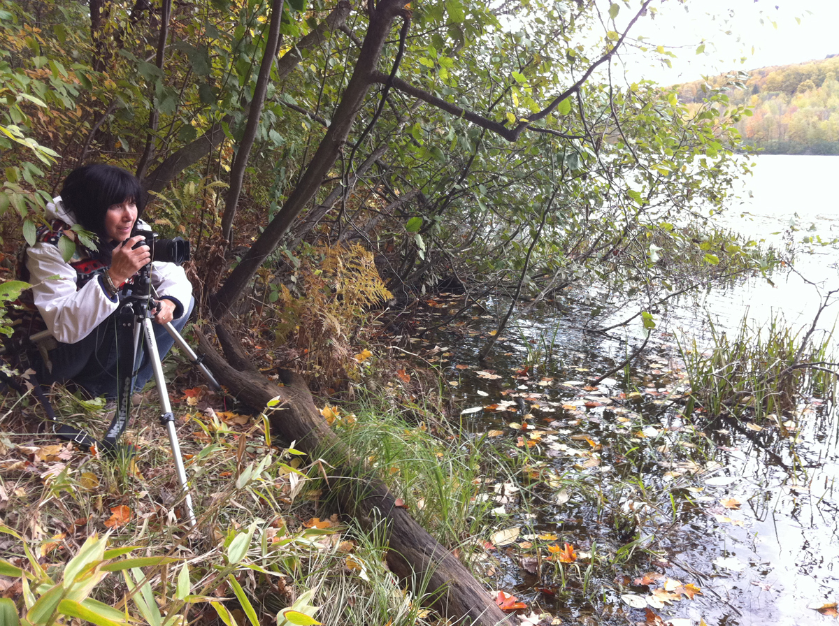
<svg viewBox="0 0 839 626"><path fill-rule="evenodd" d="M29 366L40 383L71 381L91 396L116 397L117 354L126 349L117 345L120 287L151 261L149 246L140 243L143 236L130 236L143 209L138 206L141 198L139 181L131 173L94 163L71 172L60 196L47 204L50 225L37 231L21 272L23 280L33 284L23 298L28 314L15 327L16 335L50 331L51 337L29 352ZM82 245L71 230L76 224L96 235L96 251ZM65 261L62 250L68 249L73 254ZM180 331L193 304L184 270L155 261L151 282L160 298L154 321L173 322ZM156 326L154 334L162 358L174 341L163 326ZM152 371L144 359L135 389L143 388Z"/></svg>

